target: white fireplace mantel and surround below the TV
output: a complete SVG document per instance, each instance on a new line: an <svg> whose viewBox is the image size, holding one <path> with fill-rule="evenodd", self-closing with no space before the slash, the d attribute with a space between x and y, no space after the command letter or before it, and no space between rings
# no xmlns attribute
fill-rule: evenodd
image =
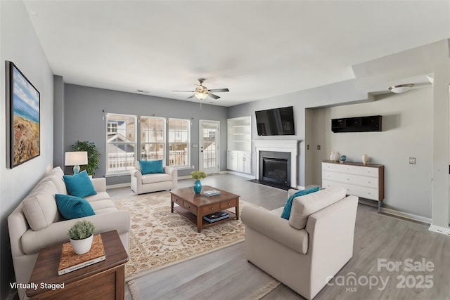
<svg viewBox="0 0 450 300"><path fill-rule="evenodd" d="M253 150L255 155L254 165L256 166L256 178L259 179L259 152L260 151L278 151L290 152L290 186L297 188L297 140L253 140Z"/></svg>

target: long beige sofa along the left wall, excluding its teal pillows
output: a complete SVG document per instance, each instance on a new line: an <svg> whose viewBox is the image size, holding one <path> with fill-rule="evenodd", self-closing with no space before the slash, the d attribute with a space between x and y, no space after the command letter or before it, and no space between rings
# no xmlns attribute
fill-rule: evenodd
<svg viewBox="0 0 450 300"><path fill-rule="evenodd" d="M94 223L96 234L117 230L124 248L129 249L129 214L120 211L106 193L105 178L94 178L96 195L85 197L95 211L86 219ZM53 244L68 242L68 230L79 219L64 220L58 212L55 194L67 194L63 171L56 167L37 183L25 199L8 216L8 230L15 280L26 284L39 250ZM20 299L27 299L25 289L18 289Z"/></svg>

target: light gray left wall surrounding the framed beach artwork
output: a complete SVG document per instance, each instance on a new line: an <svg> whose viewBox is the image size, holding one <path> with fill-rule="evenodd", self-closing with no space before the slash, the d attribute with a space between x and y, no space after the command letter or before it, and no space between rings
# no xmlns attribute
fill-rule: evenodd
<svg viewBox="0 0 450 300"><path fill-rule="evenodd" d="M0 299L14 281L8 215L53 167L53 74L22 1L0 1ZM41 93L41 155L6 168L5 60L11 60Z"/></svg>

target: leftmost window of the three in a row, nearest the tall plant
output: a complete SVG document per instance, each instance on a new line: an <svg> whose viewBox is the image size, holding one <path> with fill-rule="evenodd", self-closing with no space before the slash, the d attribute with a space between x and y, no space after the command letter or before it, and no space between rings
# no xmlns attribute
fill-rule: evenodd
<svg viewBox="0 0 450 300"><path fill-rule="evenodd" d="M107 174L134 168L136 156L136 116L106 115Z"/></svg>

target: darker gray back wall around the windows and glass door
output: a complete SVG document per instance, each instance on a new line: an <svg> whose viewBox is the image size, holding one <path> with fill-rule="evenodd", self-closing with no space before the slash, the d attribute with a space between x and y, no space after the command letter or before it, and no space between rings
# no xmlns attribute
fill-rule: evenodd
<svg viewBox="0 0 450 300"><path fill-rule="evenodd" d="M144 115L191 119L191 143L198 144L198 120L210 119L220 122L220 169L226 169L226 107L188 101L143 96L86 86L65 84L64 89L64 151L76 141L93 141L98 150L105 153L105 112L124 115ZM59 137L62 138L62 137ZM55 153L59 156L61 153ZM198 169L198 148L191 147L191 165ZM101 157L95 177L105 176L105 157ZM179 176L188 175L192 169L180 170ZM70 173L70 168L66 170ZM129 183L129 176L107 178L108 185Z"/></svg>

